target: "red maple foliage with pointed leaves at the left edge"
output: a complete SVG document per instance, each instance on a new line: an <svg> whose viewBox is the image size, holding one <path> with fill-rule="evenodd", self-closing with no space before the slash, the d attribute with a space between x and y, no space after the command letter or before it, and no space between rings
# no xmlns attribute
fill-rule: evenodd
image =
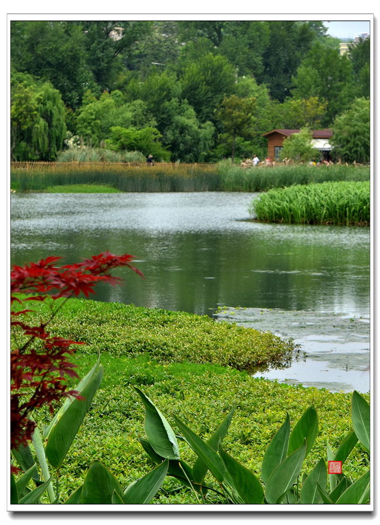
<svg viewBox="0 0 380 525"><path fill-rule="evenodd" d="M82 262L57 267L61 257L47 257L29 265L13 266L10 274L10 303L15 301L26 306L26 301L45 301L47 297L78 297L83 292L86 297L94 292L100 281L111 284L121 282L110 271L127 266L143 277L142 272L132 266L133 255L113 255L105 251ZM16 293L36 294L19 298ZM49 295L47 295L49 294ZM32 410L48 405L53 411L53 402L62 397L81 398L78 392L67 390L68 377L78 377L75 364L69 361L75 351L73 345L83 344L60 337L52 337L47 325L56 316L60 305L52 310L50 318L38 326L27 323L29 308L12 310L10 324L19 327L26 336L25 343L10 352L10 447L26 445L34 432L35 423L28 415Z"/></svg>

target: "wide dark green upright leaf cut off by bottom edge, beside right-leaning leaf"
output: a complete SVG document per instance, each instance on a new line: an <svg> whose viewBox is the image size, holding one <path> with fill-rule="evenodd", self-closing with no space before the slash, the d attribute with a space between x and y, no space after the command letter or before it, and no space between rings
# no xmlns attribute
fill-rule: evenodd
<svg viewBox="0 0 380 525"><path fill-rule="evenodd" d="M114 490L123 497L123 489L115 476L95 459L84 478L81 503L83 505L110 505Z"/></svg>

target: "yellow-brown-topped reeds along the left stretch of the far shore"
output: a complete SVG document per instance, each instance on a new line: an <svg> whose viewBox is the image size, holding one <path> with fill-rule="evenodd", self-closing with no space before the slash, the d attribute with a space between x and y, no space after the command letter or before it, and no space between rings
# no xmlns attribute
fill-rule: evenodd
<svg viewBox="0 0 380 525"><path fill-rule="evenodd" d="M11 187L20 192L77 184L122 192L202 192L218 190L220 178L215 165L196 164L19 163L11 170Z"/></svg>

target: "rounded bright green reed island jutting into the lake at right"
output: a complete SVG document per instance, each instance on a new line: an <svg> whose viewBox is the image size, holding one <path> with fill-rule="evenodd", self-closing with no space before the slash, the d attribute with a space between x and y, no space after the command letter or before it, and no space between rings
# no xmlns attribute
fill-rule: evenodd
<svg viewBox="0 0 380 525"><path fill-rule="evenodd" d="M255 220L287 224L370 224L370 182L323 182L263 193L249 206Z"/></svg>

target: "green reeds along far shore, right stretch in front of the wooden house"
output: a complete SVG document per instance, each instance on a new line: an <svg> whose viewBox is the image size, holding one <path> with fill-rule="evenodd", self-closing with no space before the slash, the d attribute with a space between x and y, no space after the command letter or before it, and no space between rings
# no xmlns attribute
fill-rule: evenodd
<svg viewBox="0 0 380 525"><path fill-rule="evenodd" d="M278 166L259 165L244 169L228 162L218 164L221 189L231 192L262 192L294 184L321 183L326 181L369 181L370 167L354 165Z"/></svg>

